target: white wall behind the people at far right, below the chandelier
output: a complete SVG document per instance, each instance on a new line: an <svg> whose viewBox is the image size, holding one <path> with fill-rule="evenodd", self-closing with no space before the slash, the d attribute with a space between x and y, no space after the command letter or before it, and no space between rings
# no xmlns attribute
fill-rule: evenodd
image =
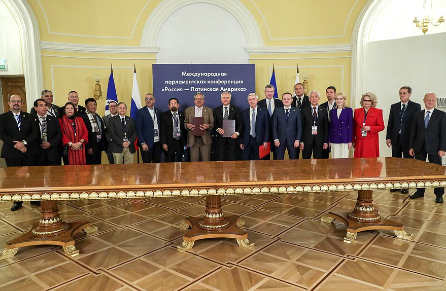
<svg viewBox="0 0 446 291"><path fill-rule="evenodd" d="M386 124L386 129L380 134L382 157L391 156L386 145L385 132L390 105L399 101L398 90L401 86L412 88L410 99L419 102L422 108L422 100L427 92L435 92L437 97L446 97L445 48L446 33L370 42L365 45L364 92L372 91L378 96L377 107L383 109ZM360 97L355 96L357 104Z"/></svg>

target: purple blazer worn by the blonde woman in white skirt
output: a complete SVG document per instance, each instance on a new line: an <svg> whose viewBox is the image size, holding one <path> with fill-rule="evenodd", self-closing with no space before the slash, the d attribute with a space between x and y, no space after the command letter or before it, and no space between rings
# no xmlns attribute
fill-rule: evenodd
<svg viewBox="0 0 446 291"><path fill-rule="evenodd" d="M332 143L349 143L353 141L353 109L342 109L339 118L337 108L331 110L330 130L328 141Z"/></svg>

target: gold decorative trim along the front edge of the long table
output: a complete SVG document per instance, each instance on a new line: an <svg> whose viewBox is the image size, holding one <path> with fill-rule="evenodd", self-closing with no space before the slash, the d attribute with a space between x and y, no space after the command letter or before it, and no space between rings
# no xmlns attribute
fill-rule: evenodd
<svg viewBox="0 0 446 291"><path fill-rule="evenodd" d="M101 191L101 192L62 192L62 193L25 193L5 194L2 202L10 201L40 201L40 200L80 200L80 199L113 199L113 198L149 198L149 197L178 197L178 196L209 196L209 195L243 195L243 194L280 194L290 192L331 192L357 190L389 190L399 188L434 188L446 187L446 180L412 181L410 183L356 183L356 184L323 184L305 186L272 186L272 187L228 187L202 189L175 190L146 190L146 191Z"/></svg>

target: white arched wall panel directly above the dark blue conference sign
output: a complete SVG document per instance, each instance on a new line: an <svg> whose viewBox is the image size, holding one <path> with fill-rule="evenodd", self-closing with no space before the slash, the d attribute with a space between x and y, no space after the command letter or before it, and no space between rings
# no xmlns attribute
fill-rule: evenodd
<svg viewBox="0 0 446 291"><path fill-rule="evenodd" d="M196 3L172 13L158 34L157 63L248 63L242 26L227 10Z"/></svg>

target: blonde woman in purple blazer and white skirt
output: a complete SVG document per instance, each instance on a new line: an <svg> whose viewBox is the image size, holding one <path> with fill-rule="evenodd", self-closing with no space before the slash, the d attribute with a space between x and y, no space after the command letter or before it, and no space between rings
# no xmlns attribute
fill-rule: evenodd
<svg viewBox="0 0 446 291"><path fill-rule="evenodd" d="M330 112L330 130L328 141L331 147L331 157L348 158L353 142L353 110L346 107L346 94L336 94L336 107Z"/></svg>

